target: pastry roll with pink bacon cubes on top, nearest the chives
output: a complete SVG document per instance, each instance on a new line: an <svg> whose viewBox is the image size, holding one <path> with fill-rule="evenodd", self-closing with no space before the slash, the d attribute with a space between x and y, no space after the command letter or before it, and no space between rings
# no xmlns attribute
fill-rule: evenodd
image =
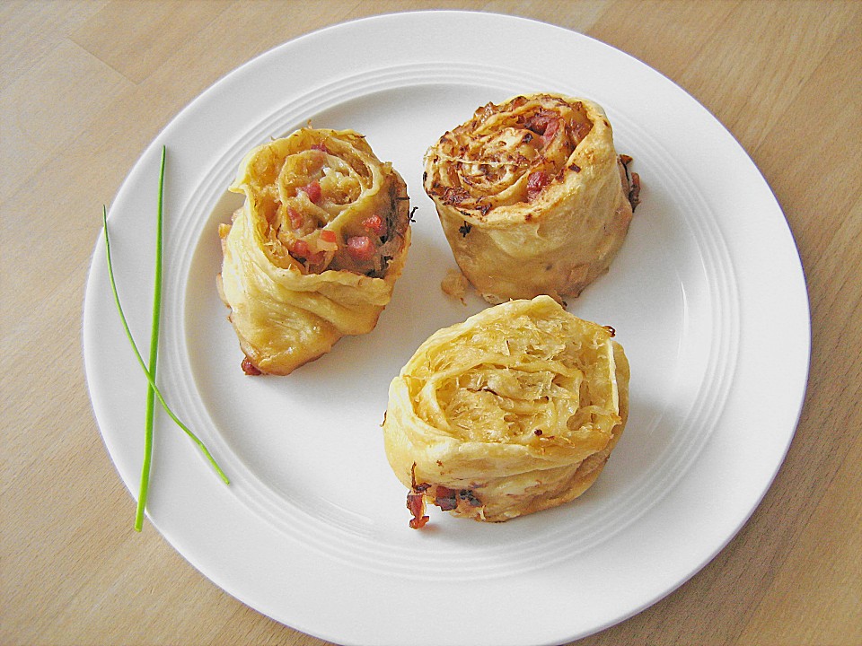
<svg viewBox="0 0 862 646"><path fill-rule="evenodd" d="M352 130L302 128L262 144L219 229L223 301L244 371L284 375L374 329L410 244L407 186Z"/></svg>

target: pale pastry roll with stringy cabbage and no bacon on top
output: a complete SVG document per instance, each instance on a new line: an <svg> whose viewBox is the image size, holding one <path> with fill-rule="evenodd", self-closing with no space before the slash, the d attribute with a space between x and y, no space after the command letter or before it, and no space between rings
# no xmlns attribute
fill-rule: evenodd
<svg viewBox="0 0 862 646"><path fill-rule="evenodd" d="M550 296L508 301L446 327L391 381L386 456L425 504L502 521L584 493L629 414L629 362L613 330Z"/></svg>

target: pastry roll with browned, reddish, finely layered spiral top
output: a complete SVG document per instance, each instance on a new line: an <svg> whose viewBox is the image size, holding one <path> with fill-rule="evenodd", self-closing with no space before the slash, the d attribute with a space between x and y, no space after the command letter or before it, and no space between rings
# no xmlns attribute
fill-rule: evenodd
<svg viewBox="0 0 862 646"><path fill-rule="evenodd" d="M532 94L488 103L441 136L425 156L424 188L486 301L562 301L611 265L639 179L629 178L600 106Z"/></svg>

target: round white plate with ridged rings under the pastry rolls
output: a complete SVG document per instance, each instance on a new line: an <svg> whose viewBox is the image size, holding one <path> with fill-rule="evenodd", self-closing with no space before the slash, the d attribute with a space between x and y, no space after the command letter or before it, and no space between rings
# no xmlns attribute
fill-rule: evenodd
<svg viewBox="0 0 862 646"><path fill-rule="evenodd" d="M427 336L483 307L440 291L454 263L421 188L422 154L480 104L542 90L602 104L643 180L610 273L569 304L615 327L629 354L629 426L576 502L498 525L437 511L412 530L383 455L386 389ZM225 188L251 146L309 119L364 133L400 170L418 206L413 247L374 332L289 377L249 378L215 287L217 225L236 205ZM120 296L144 354L163 144L159 380L233 482L160 415L149 515L189 563L259 612L342 644L568 642L681 585L769 487L807 377L796 247L733 137L646 65L547 24L453 12L340 24L243 65L164 129L110 206ZM104 441L136 495L146 384L101 239L84 358Z"/></svg>

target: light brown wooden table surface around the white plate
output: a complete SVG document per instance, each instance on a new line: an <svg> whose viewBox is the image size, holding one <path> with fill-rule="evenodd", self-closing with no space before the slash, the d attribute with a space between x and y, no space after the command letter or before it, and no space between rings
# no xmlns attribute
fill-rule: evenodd
<svg viewBox="0 0 862 646"><path fill-rule="evenodd" d="M133 530L84 380L84 284L101 205L199 92L304 32L427 8L553 22L682 85L752 156L805 267L810 378L769 493L693 579L578 643L862 643L862 3L788 0L0 4L0 643L325 643Z"/></svg>

